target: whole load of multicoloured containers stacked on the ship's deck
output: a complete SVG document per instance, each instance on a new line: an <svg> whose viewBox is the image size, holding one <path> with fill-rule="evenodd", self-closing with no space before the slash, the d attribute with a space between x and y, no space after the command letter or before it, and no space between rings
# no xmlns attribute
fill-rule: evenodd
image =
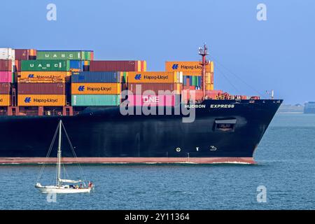
<svg viewBox="0 0 315 224"><path fill-rule="evenodd" d="M147 72L146 61L93 59L92 50L0 48L0 106L10 106L15 71L18 106L65 106L67 93L72 106L113 106L120 104L126 89L134 94L128 95L129 105L136 106L174 106L181 90L188 99L192 94L203 97L200 62L166 62L166 71ZM213 62L206 67L205 82L214 98ZM169 92L159 97L159 91Z"/></svg>

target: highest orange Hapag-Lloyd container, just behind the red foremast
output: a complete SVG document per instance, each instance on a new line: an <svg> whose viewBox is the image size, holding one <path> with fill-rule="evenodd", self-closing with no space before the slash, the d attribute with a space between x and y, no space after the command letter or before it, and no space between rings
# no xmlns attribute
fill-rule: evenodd
<svg viewBox="0 0 315 224"><path fill-rule="evenodd" d="M202 72L200 62L165 62L165 71L190 71ZM206 71L210 71L210 64L206 66Z"/></svg>

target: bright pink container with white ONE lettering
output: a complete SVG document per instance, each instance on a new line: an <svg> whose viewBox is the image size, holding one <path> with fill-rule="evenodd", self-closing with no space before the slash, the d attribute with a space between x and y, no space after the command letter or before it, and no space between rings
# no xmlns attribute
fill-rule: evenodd
<svg viewBox="0 0 315 224"><path fill-rule="evenodd" d="M129 106L175 106L181 102L179 94L130 94Z"/></svg>

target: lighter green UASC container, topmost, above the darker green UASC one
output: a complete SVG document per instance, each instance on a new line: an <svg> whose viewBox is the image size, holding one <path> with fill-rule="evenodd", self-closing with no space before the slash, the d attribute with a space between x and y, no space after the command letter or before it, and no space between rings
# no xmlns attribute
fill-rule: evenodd
<svg viewBox="0 0 315 224"><path fill-rule="evenodd" d="M91 52L90 51L81 51L81 50L73 50L73 51L37 51L37 59L43 60L90 60Z"/></svg>

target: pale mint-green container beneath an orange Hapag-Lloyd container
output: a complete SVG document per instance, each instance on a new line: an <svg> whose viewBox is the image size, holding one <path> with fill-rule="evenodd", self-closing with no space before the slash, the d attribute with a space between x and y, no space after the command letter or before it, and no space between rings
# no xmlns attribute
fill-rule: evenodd
<svg viewBox="0 0 315 224"><path fill-rule="evenodd" d="M119 106L120 94L83 94L71 96L72 106Z"/></svg>

